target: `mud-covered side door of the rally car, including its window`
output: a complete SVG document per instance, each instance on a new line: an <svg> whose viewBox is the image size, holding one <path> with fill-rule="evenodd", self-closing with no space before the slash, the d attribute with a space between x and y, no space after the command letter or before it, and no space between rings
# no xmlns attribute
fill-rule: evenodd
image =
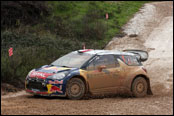
<svg viewBox="0 0 174 116"><path fill-rule="evenodd" d="M100 70L100 67L102 70ZM119 86L122 69L114 55L99 55L87 67L89 88L92 92L113 92Z"/></svg>

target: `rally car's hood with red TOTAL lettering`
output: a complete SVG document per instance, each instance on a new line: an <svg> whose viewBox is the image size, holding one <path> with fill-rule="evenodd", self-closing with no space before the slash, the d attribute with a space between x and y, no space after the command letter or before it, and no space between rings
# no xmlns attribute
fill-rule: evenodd
<svg viewBox="0 0 174 116"><path fill-rule="evenodd" d="M66 67L58 67L58 66L43 66L41 68L32 70L28 76L31 78L37 77L37 78L45 79L48 76L57 74L59 72L71 71L74 69L76 69L76 68L66 68Z"/></svg>

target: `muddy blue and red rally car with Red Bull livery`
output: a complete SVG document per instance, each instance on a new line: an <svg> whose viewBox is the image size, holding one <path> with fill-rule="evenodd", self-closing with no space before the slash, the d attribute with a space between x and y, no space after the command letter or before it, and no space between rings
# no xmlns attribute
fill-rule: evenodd
<svg viewBox="0 0 174 116"><path fill-rule="evenodd" d="M142 50L73 51L50 65L29 72L26 92L34 95L81 99L85 94L128 93L135 97L152 95Z"/></svg>

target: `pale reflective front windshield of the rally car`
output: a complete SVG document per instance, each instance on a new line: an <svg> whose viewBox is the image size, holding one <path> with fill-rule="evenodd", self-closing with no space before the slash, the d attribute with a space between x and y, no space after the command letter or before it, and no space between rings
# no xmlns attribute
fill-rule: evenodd
<svg viewBox="0 0 174 116"><path fill-rule="evenodd" d="M80 68L86 61L88 61L93 55L85 53L72 52L63 57L60 57L51 65Z"/></svg>

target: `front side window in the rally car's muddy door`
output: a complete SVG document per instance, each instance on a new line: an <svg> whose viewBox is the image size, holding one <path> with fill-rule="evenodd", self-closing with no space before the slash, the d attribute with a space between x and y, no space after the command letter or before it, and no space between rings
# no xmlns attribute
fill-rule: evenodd
<svg viewBox="0 0 174 116"><path fill-rule="evenodd" d="M94 65L95 69L101 65L105 65L106 68L114 68L116 67L116 59L113 55L102 55L96 58Z"/></svg>

